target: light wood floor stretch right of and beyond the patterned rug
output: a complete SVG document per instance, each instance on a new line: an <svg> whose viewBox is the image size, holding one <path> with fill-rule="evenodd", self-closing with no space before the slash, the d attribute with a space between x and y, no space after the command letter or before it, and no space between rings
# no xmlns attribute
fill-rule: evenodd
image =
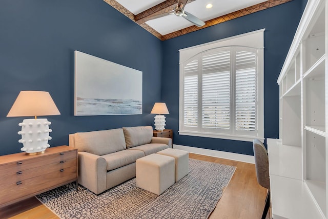
<svg viewBox="0 0 328 219"><path fill-rule="evenodd" d="M210 219L261 218L267 189L257 183L254 164L192 153L189 157L237 167Z"/></svg>

